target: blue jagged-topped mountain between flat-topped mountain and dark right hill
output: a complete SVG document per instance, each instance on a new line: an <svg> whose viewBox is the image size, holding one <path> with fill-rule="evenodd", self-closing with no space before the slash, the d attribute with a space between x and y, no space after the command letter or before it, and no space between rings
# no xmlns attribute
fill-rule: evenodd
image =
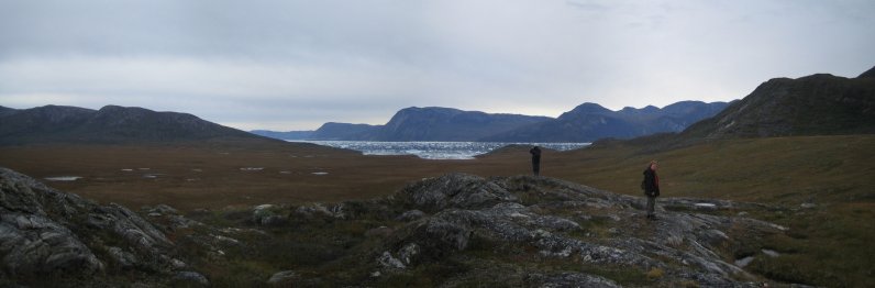
<svg viewBox="0 0 875 288"><path fill-rule="evenodd" d="M599 139L632 139L663 132L679 132L697 121L712 117L729 103L683 101L663 109L645 107L611 111L596 103L584 103L555 120L483 137L494 142L592 142Z"/></svg>

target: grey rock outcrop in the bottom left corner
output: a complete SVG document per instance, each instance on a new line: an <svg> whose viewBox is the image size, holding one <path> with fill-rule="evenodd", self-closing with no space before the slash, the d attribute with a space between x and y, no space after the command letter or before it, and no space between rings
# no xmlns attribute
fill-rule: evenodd
<svg viewBox="0 0 875 288"><path fill-rule="evenodd" d="M173 242L124 207L100 206L5 168L0 190L1 278L173 269Z"/></svg>

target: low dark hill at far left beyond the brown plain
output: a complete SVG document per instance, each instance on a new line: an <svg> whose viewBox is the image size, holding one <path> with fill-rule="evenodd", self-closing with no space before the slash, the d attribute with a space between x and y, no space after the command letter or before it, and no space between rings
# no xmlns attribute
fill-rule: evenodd
<svg viewBox="0 0 875 288"><path fill-rule="evenodd" d="M191 114L107 106L0 110L0 144L267 140Z"/></svg>

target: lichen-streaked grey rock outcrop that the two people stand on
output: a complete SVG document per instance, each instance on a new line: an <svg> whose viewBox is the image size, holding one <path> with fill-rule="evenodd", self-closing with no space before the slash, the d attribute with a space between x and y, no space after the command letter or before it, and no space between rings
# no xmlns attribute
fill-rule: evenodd
<svg viewBox="0 0 875 288"><path fill-rule="evenodd" d="M490 258L517 253L596 270L644 275L658 269L661 280L675 284L752 286L743 280L754 277L722 256L732 254L726 247L786 230L753 219L697 213L700 207L716 211L750 204L690 198L664 201L671 209L661 208L658 220L649 221L641 198L543 177L451 174L412 184L394 200L433 214L397 229L376 252L383 274L486 246L480 253L497 254ZM529 270L525 280L535 286L617 286L600 275Z"/></svg>

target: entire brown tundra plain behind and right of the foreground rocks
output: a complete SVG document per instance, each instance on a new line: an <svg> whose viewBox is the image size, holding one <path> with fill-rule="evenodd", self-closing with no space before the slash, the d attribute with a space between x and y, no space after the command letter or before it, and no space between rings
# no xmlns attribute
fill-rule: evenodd
<svg viewBox="0 0 875 288"><path fill-rule="evenodd" d="M757 258L750 269L791 283L875 287L875 136L722 140L655 153L643 148L612 144L546 151L542 175L639 195L645 164L657 159L664 197L762 202L772 208L751 217L789 228L765 243L783 256ZM85 177L47 184L99 202L134 210L167 203L184 211L368 199L450 171L484 177L530 173L522 147L473 160L427 160L267 142L5 146L0 147L0 166L34 178Z"/></svg>

